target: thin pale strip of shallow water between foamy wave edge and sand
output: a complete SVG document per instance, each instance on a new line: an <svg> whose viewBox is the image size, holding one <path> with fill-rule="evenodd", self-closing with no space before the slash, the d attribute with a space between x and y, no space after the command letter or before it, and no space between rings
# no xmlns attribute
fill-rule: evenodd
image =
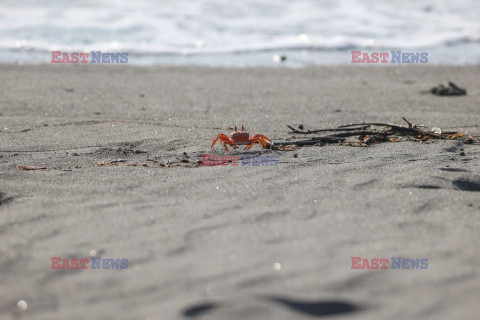
<svg viewBox="0 0 480 320"><path fill-rule="evenodd" d="M72 54L70 51L62 51ZM476 65L480 64L480 43L464 44L452 48L433 48L433 49L370 49L370 48L351 48L348 50L263 50L263 51L245 51L238 53L164 53L149 54L128 51L102 51L104 53L127 53L128 65L135 66L210 66L210 67L312 67L312 66L342 66L352 64L352 52L361 51L365 53L400 51L402 53L427 53L427 63L385 63L382 65ZM82 52L82 51L74 51ZM88 51L86 53L89 53ZM0 63L2 64L21 64L21 65L39 65L50 64L52 60L51 52L37 51L1 51ZM367 64L365 65L374 65Z"/></svg>

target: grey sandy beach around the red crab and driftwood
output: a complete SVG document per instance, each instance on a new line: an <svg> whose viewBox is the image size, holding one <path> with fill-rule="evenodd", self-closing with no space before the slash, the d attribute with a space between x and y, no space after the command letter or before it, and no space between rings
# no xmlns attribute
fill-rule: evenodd
<svg viewBox="0 0 480 320"><path fill-rule="evenodd" d="M278 165L181 164L242 123L273 142L402 117L478 136L480 66L0 73L0 318L478 318L480 146L255 145ZM467 95L424 92L449 80ZM128 268L52 269L92 250Z"/></svg>

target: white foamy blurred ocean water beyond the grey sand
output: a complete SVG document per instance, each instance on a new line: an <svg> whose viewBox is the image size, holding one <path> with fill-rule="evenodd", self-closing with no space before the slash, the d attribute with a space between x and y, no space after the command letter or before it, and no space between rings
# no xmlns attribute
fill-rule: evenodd
<svg viewBox="0 0 480 320"><path fill-rule="evenodd" d="M480 1L0 0L1 63L50 63L53 50L136 65L350 64L352 50L477 64Z"/></svg>

